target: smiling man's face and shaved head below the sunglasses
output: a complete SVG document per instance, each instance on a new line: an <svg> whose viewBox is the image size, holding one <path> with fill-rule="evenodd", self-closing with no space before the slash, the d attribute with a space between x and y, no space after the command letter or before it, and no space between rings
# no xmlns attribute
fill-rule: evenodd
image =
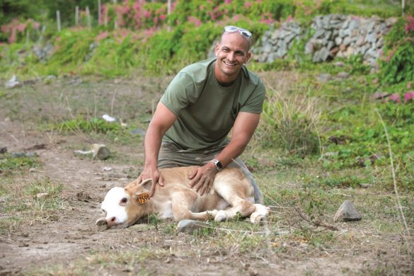
<svg viewBox="0 0 414 276"><path fill-rule="evenodd" d="M238 32L222 35L222 41L216 45L217 66L219 67L219 71L216 70L217 79L236 79L243 64L247 63L251 57L251 53L248 52L249 44L249 40L243 38Z"/></svg>

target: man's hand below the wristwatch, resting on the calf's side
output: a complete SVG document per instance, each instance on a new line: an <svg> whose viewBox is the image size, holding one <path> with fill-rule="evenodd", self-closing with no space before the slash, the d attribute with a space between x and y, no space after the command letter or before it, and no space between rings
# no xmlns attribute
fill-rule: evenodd
<svg viewBox="0 0 414 276"><path fill-rule="evenodd" d="M205 192L209 193L216 173L218 173L217 168L212 162L195 169L188 175L191 179L190 187L195 188L197 192L200 190L200 195L204 195Z"/></svg>

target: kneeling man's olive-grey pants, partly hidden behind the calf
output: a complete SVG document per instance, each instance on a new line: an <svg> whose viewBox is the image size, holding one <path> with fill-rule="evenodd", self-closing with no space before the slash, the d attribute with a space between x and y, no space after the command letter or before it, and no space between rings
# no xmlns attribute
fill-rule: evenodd
<svg viewBox="0 0 414 276"><path fill-rule="evenodd" d="M187 149L181 149L180 146L174 144L173 142L162 142L161 149L159 151L158 166L159 168L203 166L207 162L214 159L214 157L217 156L223 149L224 146L207 151L190 151ZM250 171L248 171L248 168L243 161L241 161L241 159L236 159L235 161L231 162L227 167L238 168L243 171L245 176L253 185L255 203L261 203L262 199L260 190L255 179L253 178L253 175Z"/></svg>

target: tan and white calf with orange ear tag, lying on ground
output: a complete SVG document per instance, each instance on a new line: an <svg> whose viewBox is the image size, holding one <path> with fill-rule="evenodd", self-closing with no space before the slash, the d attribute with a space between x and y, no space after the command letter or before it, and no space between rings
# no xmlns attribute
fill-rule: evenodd
<svg viewBox="0 0 414 276"><path fill-rule="evenodd" d="M243 217L250 215L251 222L255 223L268 214L268 207L253 204L253 186L237 168L224 168L217 173L212 189L202 196L188 186L188 174L195 168L161 169L164 186L157 186L151 198L151 179L142 183L133 181L125 188L112 188L102 202L106 217L98 219L96 224L124 228L153 213L163 219L173 218L176 222L210 217L222 222L238 212Z"/></svg>

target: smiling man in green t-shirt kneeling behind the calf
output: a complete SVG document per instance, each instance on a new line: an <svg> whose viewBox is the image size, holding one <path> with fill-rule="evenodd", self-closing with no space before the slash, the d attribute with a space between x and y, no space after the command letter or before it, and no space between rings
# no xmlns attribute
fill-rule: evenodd
<svg viewBox="0 0 414 276"><path fill-rule="evenodd" d="M159 168L200 166L188 177L203 195L217 172L233 166L251 180L255 202L260 202L253 176L237 159L258 126L265 98L263 82L244 66L251 59L250 47L248 30L226 26L216 45L217 58L191 64L171 81L144 139L144 170L138 180L154 180L151 194L157 180L163 185Z"/></svg>

